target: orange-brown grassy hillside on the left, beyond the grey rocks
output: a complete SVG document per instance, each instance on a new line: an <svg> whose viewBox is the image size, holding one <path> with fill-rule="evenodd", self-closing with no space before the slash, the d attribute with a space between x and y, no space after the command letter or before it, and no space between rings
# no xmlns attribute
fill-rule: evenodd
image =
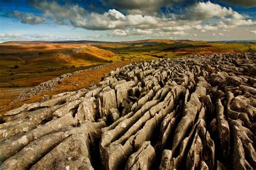
<svg viewBox="0 0 256 170"><path fill-rule="evenodd" d="M35 86L64 73L116 61L120 58L114 53L85 44L3 44L0 86Z"/></svg>

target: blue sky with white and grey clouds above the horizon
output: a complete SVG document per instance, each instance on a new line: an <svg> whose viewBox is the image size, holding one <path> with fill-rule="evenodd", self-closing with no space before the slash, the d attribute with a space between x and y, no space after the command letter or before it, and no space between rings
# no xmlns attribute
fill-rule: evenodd
<svg viewBox="0 0 256 170"><path fill-rule="evenodd" d="M0 0L0 42L139 39L256 39L256 1Z"/></svg>

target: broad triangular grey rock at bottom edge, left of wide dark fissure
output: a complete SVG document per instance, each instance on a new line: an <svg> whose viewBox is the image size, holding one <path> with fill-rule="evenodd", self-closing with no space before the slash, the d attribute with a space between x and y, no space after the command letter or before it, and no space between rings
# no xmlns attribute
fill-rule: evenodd
<svg viewBox="0 0 256 170"><path fill-rule="evenodd" d="M53 148L31 169L93 169L90 140L86 134L73 134Z"/></svg>

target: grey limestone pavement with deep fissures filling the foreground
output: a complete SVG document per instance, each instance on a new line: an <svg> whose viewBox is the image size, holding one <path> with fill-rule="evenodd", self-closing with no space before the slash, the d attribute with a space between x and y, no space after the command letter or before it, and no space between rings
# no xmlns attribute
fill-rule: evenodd
<svg viewBox="0 0 256 170"><path fill-rule="evenodd" d="M132 63L5 113L2 169L255 169L255 53Z"/></svg>

